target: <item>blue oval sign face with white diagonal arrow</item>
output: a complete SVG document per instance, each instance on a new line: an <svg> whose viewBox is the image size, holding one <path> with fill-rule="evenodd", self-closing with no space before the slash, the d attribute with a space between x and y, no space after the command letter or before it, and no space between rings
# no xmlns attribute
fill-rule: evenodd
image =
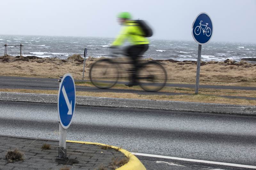
<svg viewBox="0 0 256 170"><path fill-rule="evenodd" d="M71 74L67 73L60 82L58 94L58 113L60 124L68 129L74 115L76 105L75 81Z"/></svg>

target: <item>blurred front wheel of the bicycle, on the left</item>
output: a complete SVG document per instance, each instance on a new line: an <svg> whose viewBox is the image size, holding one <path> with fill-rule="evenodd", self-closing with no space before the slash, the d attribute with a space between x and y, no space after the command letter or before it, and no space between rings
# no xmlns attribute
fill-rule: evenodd
<svg viewBox="0 0 256 170"><path fill-rule="evenodd" d="M113 87L119 77L118 69L109 59L98 60L90 68L90 80L99 89Z"/></svg>

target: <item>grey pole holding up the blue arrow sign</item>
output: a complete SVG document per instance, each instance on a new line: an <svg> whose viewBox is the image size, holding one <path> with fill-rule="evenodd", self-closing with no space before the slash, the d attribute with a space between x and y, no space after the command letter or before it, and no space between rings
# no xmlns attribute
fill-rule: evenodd
<svg viewBox="0 0 256 170"><path fill-rule="evenodd" d="M60 77L59 82L61 82L62 77ZM60 87L59 87L60 88ZM64 129L59 122L59 130L60 130L60 143L59 143L59 155L58 157L61 159L67 159L67 148L66 148L66 138L67 138L67 130Z"/></svg>

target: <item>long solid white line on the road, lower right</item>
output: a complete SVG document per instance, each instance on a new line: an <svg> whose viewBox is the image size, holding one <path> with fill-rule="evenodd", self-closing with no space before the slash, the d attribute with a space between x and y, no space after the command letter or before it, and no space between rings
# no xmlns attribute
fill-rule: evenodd
<svg viewBox="0 0 256 170"><path fill-rule="evenodd" d="M146 153L132 152L132 154L138 155L138 156L147 156L147 157L155 157L155 158L174 159L174 160L183 160L183 161L189 161L189 162L199 162L199 163L206 163L206 164L215 164L215 165L235 166L235 167L256 169L256 166L252 166L252 165L241 165L241 164L233 164L233 163L225 163L225 162L215 162L215 161L209 161L209 160L178 158L178 157L153 155L153 154L146 154Z"/></svg>

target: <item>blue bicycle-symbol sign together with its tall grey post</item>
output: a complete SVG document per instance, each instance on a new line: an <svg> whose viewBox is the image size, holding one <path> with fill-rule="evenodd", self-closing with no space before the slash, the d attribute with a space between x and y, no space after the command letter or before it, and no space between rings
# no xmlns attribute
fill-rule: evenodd
<svg viewBox="0 0 256 170"><path fill-rule="evenodd" d="M193 36L193 39L196 41L196 43L198 43L195 94L198 94L198 89L199 89L202 45L208 43L211 40L212 33L213 33L213 24L210 16L205 12L198 14L195 21L192 24L192 36Z"/></svg>

